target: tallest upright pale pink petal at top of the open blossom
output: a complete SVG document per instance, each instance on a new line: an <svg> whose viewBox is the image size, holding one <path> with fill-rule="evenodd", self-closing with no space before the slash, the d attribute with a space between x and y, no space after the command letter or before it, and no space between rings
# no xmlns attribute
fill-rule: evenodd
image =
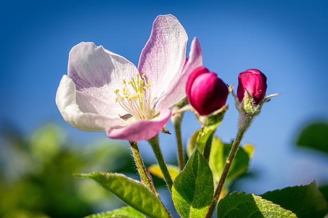
<svg viewBox="0 0 328 218"><path fill-rule="evenodd" d="M186 60L188 36L173 15L159 15L142 49L138 70L151 79L152 94L159 98L179 78Z"/></svg>

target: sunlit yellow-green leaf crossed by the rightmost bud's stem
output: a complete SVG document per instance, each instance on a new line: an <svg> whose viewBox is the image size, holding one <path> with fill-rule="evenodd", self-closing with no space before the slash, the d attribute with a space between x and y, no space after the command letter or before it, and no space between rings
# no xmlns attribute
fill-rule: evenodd
<svg viewBox="0 0 328 218"><path fill-rule="evenodd" d="M231 147L232 143L226 144L223 143L218 137L213 138L209 164L213 172L215 185L218 183L221 177L223 167L226 163ZM241 147L239 147L230 167L227 182L229 183L233 179L245 173L248 169L249 161L249 154L246 153Z"/></svg>

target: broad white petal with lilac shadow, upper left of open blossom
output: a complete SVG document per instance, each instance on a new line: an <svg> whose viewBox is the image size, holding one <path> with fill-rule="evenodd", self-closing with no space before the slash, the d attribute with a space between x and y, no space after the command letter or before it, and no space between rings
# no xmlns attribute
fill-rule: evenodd
<svg viewBox="0 0 328 218"><path fill-rule="evenodd" d="M74 81L76 90L105 103L113 114L127 113L115 103L114 90L123 86L123 79L129 80L137 73L130 61L93 42L81 42L70 52L68 76Z"/></svg>

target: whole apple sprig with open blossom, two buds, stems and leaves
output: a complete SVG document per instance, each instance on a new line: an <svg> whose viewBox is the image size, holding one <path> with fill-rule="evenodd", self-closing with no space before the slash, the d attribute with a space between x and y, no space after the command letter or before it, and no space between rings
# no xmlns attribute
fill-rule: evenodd
<svg viewBox="0 0 328 218"><path fill-rule="evenodd" d="M270 217L296 217L270 201L261 201L264 199L260 196L247 195L258 204L252 209L250 202L245 204L245 193L226 196L229 184L246 171L252 156L251 151L240 147L244 133L262 105L278 94L265 96L267 77L258 69L240 72L235 94L234 85L228 86L203 65L196 37L186 57L187 41L187 33L176 17L160 15L153 22L137 67L92 42L81 42L72 48L68 74L61 78L56 93L56 105L61 115L77 129L105 131L109 138L128 140L140 175L140 181L137 181L117 173L77 174L95 180L130 206L102 213L99 217L120 216L123 215L121 212L126 215L126 209L130 215L127 217L137 214L140 217L173 217L160 200L149 172L165 180L175 209L183 218L210 218L216 207L217 217L223 217L224 210L234 211L236 205L238 208L246 205L247 212L238 210L231 217L240 214L253 217L259 211ZM230 92L239 118L236 137L226 144L215 136L215 131L228 109ZM194 112L201 128L188 142L189 159L185 163L181 120L186 110ZM178 166L166 164L159 146L158 132L168 132L165 125L170 117L177 139ZM158 165L146 168L137 146L140 140L148 141ZM227 149L230 149L228 155ZM234 160L237 164L233 164ZM234 172L233 176L231 172ZM268 213L268 205L272 213ZM281 215L276 216L277 213Z"/></svg>

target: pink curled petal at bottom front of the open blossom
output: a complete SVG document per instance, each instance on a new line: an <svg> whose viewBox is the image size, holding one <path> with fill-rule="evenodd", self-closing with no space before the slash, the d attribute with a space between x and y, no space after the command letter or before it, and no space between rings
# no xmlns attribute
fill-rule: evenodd
<svg viewBox="0 0 328 218"><path fill-rule="evenodd" d="M168 122L171 110L164 108L158 117L151 120L138 120L126 127L110 127L107 136L116 139L127 139L129 141L148 140L154 137Z"/></svg>

